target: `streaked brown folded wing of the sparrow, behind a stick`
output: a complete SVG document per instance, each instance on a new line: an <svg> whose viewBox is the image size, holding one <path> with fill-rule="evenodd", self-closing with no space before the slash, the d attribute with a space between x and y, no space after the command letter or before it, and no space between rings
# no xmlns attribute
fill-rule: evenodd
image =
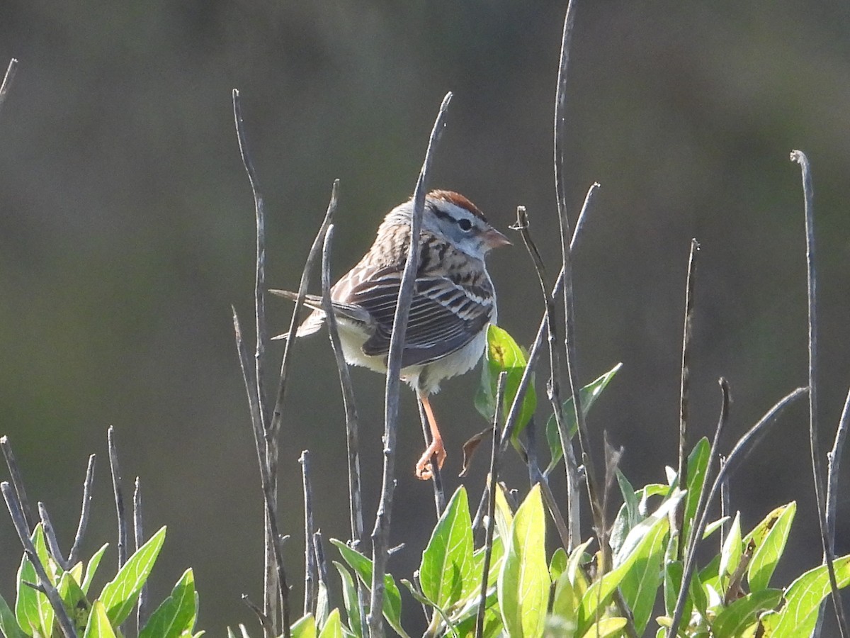
<svg viewBox="0 0 850 638"><path fill-rule="evenodd" d="M401 273L377 271L354 286L346 301L359 305L374 320L375 332L363 345L369 356L386 355L393 330ZM436 361L460 350L490 321L491 299L467 294L465 288L441 276L420 276L411 301L402 367Z"/></svg>

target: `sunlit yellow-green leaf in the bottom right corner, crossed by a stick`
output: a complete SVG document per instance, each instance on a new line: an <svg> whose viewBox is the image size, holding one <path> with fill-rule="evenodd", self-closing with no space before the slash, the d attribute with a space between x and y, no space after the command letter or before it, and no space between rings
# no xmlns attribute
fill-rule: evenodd
<svg viewBox="0 0 850 638"><path fill-rule="evenodd" d="M839 589L850 583L850 555L833 561ZM785 590L785 607L777 614L764 618L768 630L766 635L809 635L818 620L820 603L830 595L830 576L826 566L815 567L802 574Z"/></svg>

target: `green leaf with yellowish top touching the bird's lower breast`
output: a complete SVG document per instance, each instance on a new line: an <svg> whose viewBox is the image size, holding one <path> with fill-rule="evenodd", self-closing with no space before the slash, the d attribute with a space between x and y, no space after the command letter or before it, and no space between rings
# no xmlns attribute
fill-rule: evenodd
<svg viewBox="0 0 850 638"><path fill-rule="evenodd" d="M507 419L513 399L519 390L519 381L523 377L526 366L526 357L522 348L517 345L513 337L492 323L487 328L487 349L484 350L484 365L481 367L481 385L475 395L475 407L479 413L487 419L493 420L496 413L496 388L499 382L499 373L506 373L505 394L501 402L503 419ZM528 389L523 396L523 403L519 410L519 418L513 430L511 442L514 447L518 445L519 434L528 424L537 407L537 395L534 390L534 378L530 379Z"/></svg>

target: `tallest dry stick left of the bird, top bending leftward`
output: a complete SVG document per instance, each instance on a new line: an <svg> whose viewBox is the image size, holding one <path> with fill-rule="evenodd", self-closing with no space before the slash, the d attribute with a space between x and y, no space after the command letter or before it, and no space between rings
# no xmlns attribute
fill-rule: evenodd
<svg viewBox="0 0 850 638"><path fill-rule="evenodd" d="M277 510L277 441L275 440L269 445L269 414L266 407L266 393L263 376L263 359L265 356L265 347L269 339L269 334L266 329L265 322L265 208L263 206L263 196L259 191L259 184L256 171L251 160L251 153L248 151L247 139L245 134L245 122L242 119L242 105L238 89L233 89L233 118L236 128L236 139L239 142L239 153L242 159L242 166L245 167L245 172L248 175L248 181L251 184L251 192L254 198L254 213L257 226L257 262L254 277L254 316L256 317L256 350L254 352L254 374L252 381L256 385L258 396L259 418L263 427L263 458L264 462L272 468L271 486L272 486L272 502ZM274 437L272 437L274 439ZM267 615L272 618L272 626L274 631L277 631L277 597L275 592L278 590L278 584L275 582L274 568L274 549L275 539L272 538L269 531L269 520L264 520L264 560L263 560L263 607Z"/></svg>

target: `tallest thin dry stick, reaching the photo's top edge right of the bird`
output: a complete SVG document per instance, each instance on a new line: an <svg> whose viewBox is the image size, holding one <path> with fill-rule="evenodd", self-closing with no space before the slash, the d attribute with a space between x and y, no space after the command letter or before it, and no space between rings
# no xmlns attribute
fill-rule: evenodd
<svg viewBox="0 0 850 638"><path fill-rule="evenodd" d="M597 529L602 527L601 504L596 491L596 472L593 470L593 459L589 453L590 437L587 432L584 412L581 409L578 373L575 356L575 310L573 294L573 266L570 248L570 219L567 217L566 186L564 184L564 118L566 111L567 67L570 61L570 40L572 39L573 22L575 21L575 0L567 5L564 16L564 34L561 39L561 58L558 65L558 90L555 95L554 122L554 168L555 194L558 199L558 223L561 229L561 258L564 262L564 348L567 354L567 377L570 379L570 392L573 396L575 423L577 425L581 462L585 466L585 483L587 497L590 501L593 524ZM564 450L566 453L566 450ZM609 548L601 547L603 571L610 568Z"/></svg>

